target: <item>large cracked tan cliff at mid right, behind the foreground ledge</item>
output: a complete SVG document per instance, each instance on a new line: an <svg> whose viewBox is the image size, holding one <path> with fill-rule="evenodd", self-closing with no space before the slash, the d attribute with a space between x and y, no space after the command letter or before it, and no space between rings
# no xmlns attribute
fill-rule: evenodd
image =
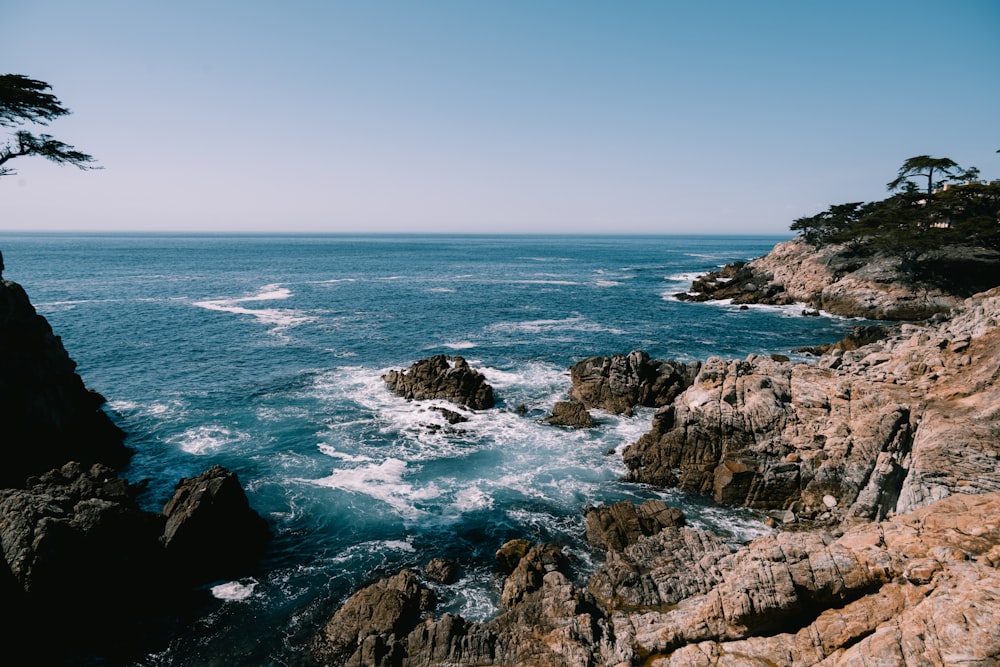
<svg viewBox="0 0 1000 667"><path fill-rule="evenodd" d="M629 479L870 520L1000 489L1000 289L816 363L709 359L624 452Z"/></svg>

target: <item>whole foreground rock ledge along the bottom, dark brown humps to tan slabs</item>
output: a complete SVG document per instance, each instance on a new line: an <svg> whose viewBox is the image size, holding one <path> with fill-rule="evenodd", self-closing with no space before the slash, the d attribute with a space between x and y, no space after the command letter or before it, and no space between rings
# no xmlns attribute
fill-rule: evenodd
<svg viewBox="0 0 1000 667"><path fill-rule="evenodd" d="M735 552L668 526L610 551L588 590L567 578L558 548L530 548L486 623L420 618L427 596L401 572L351 598L314 657L372 667L987 665L1000 659L998 566L1000 493L954 495L837 539L766 535Z"/></svg>

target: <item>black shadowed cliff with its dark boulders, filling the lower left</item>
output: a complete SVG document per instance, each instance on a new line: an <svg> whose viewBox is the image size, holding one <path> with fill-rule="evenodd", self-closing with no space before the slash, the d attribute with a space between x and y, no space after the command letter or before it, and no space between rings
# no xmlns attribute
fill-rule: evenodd
<svg viewBox="0 0 1000 667"><path fill-rule="evenodd" d="M24 290L0 282L0 592L11 664L116 664L162 642L193 586L252 571L268 530L236 476L183 480L163 514L118 477L123 433ZM203 595L203 593L202 593Z"/></svg>

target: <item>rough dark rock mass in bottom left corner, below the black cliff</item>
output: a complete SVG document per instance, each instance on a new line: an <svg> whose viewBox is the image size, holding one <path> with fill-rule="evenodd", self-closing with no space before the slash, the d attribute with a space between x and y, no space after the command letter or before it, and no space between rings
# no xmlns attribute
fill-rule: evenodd
<svg viewBox="0 0 1000 667"><path fill-rule="evenodd" d="M142 511L133 491L110 468L78 463L0 490L2 578L15 592L4 610L22 626L6 656L23 648L31 664L125 659L166 630L165 610L185 589L159 542L162 517Z"/></svg>

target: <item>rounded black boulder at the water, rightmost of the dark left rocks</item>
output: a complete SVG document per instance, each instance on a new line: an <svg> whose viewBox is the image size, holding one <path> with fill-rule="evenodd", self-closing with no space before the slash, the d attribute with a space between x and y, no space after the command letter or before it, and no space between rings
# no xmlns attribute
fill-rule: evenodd
<svg viewBox="0 0 1000 667"><path fill-rule="evenodd" d="M167 554L194 581L245 574L270 537L236 474L218 465L182 479L163 516Z"/></svg>

